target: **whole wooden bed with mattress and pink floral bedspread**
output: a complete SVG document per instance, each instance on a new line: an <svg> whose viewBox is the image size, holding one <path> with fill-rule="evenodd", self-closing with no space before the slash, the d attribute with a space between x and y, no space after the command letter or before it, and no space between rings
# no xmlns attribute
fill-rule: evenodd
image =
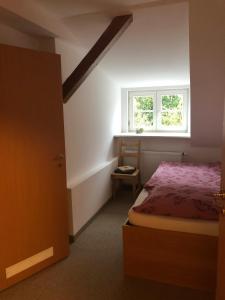
<svg viewBox="0 0 225 300"><path fill-rule="evenodd" d="M179 168L182 169L180 174ZM196 169L197 175L193 168ZM173 176L174 169L177 171L175 176ZM181 182L178 176L182 176ZM130 208L128 220L123 226L125 275L195 289L215 289L219 210L215 201L209 200L208 196L218 192L220 176L219 164L163 162L159 166L145 185L146 189L142 190ZM163 199L163 194L159 194L159 190L162 193L166 190L165 195L168 195L168 187L169 196ZM194 189L196 197L203 195L202 200L206 197L207 209L205 209L205 202L199 202L199 198L195 199L197 202L194 203L200 205L197 215L186 206L183 207L184 209L177 209L175 213L168 210L170 209L168 205L158 210L154 207L154 195L160 196L160 201L163 203L169 199L169 203L175 201L179 204L179 198L174 196L173 192L176 189L179 191L184 189L187 192L190 188ZM200 196L198 190L202 193ZM189 193L189 198L194 199L193 194ZM212 206L209 206L209 203ZM150 213L146 213L146 210Z"/></svg>

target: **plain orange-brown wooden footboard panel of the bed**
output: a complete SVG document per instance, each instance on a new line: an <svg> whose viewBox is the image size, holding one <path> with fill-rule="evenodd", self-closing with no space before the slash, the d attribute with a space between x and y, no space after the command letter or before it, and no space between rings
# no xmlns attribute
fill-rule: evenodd
<svg viewBox="0 0 225 300"><path fill-rule="evenodd" d="M125 275L201 290L216 289L218 238L123 225Z"/></svg>

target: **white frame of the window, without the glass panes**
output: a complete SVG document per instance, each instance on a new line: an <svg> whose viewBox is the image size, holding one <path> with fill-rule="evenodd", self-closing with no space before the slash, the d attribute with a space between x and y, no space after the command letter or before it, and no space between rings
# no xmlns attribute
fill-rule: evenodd
<svg viewBox="0 0 225 300"><path fill-rule="evenodd" d="M162 95L183 94L182 115L184 124L180 128L160 126L161 120L161 97ZM152 96L154 110L154 128L144 130L144 133L190 133L190 99L189 86L182 87L156 87L156 88L127 88L122 89L122 132L134 133L136 129L133 126L134 115L132 110L133 96ZM126 102L125 102L126 96ZM126 111L125 111L126 110Z"/></svg>

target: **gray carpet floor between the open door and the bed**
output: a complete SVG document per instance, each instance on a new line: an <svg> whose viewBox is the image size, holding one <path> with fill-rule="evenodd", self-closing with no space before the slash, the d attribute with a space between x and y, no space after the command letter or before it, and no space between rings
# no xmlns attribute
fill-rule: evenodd
<svg viewBox="0 0 225 300"><path fill-rule="evenodd" d="M124 278L122 232L130 191L109 201L71 245L70 256L0 293L0 300L213 300L212 294Z"/></svg>

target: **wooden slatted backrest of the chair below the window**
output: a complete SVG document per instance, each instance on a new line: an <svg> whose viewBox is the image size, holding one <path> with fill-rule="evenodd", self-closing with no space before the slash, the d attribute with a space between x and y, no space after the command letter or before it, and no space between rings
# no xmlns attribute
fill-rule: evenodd
<svg viewBox="0 0 225 300"><path fill-rule="evenodd" d="M126 163L125 158L130 157L134 158L134 164L137 169L140 168L140 149L141 149L141 142L140 141L132 141L132 142L125 142L120 140L119 143L119 166L123 166ZM132 160L133 161L133 160Z"/></svg>

